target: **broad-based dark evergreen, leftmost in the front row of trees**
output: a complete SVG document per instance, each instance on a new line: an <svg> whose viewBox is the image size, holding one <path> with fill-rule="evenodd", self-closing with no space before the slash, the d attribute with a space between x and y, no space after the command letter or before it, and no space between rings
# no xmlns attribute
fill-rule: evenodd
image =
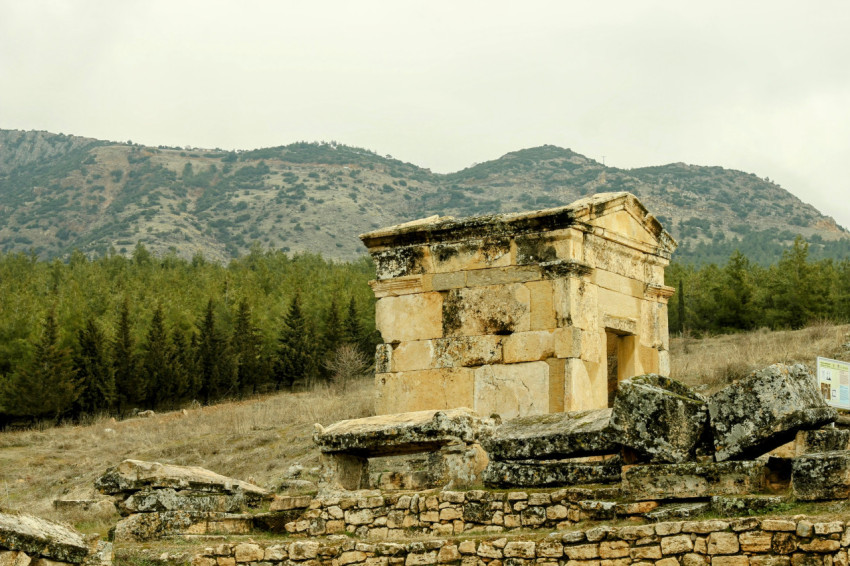
<svg viewBox="0 0 850 566"><path fill-rule="evenodd" d="M32 360L18 368L5 384L3 405L11 415L59 420L71 411L79 395L71 352L59 345L56 313L51 308Z"/></svg>

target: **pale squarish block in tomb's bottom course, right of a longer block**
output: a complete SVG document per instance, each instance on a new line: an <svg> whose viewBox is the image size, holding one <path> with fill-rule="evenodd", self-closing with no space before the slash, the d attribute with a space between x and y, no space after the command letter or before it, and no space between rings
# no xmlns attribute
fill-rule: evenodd
<svg viewBox="0 0 850 566"><path fill-rule="evenodd" d="M549 364L487 365L475 370L473 409L502 419L549 412Z"/></svg>

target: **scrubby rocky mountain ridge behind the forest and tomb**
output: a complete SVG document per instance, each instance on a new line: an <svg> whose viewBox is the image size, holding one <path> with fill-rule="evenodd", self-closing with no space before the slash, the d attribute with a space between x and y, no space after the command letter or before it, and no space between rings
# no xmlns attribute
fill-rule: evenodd
<svg viewBox="0 0 850 566"><path fill-rule="evenodd" d="M143 242L226 261L256 242L351 259L365 252L357 234L380 226L620 190L680 241L681 260L722 260L741 247L772 261L795 234L816 254L850 254L850 233L831 218L766 179L721 167L623 170L542 146L439 175L336 143L227 152L0 130L0 249L41 257L130 253Z"/></svg>

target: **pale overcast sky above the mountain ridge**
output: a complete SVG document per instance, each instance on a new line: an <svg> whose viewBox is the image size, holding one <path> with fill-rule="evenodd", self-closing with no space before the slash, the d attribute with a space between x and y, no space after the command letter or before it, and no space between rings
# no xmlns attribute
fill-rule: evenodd
<svg viewBox="0 0 850 566"><path fill-rule="evenodd" d="M436 172L548 143L770 177L850 227L850 3L0 0L0 128Z"/></svg>

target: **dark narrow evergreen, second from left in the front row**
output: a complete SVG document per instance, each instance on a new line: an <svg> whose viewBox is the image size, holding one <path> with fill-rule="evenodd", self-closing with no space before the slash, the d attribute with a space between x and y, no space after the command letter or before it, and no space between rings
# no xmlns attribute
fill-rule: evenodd
<svg viewBox="0 0 850 566"><path fill-rule="evenodd" d="M74 368L80 379L80 397L75 412L88 415L109 412L116 398L115 374L109 362L106 337L94 318L89 317L77 331L77 345Z"/></svg>

